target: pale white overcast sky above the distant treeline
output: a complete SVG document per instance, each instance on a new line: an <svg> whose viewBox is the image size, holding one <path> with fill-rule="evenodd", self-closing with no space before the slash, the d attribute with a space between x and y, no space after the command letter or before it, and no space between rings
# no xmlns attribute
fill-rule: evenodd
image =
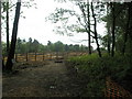
<svg viewBox="0 0 132 99"><path fill-rule="evenodd" d="M25 19L22 16L20 18L18 37L25 38L26 41L29 37L32 37L44 45L47 44L47 41L51 41L52 43L61 41L64 44L88 44L87 42L77 43L80 40L87 40L87 33L76 33L74 36L56 34L53 32L55 24L53 24L51 21L45 21L45 18L53 13L57 7L73 9L74 7L72 3L58 3L54 0L34 0L34 2L36 3L37 9L34 7L29 9L25 7L21 8L21 11L23 11L22 15L25 16ZM11 29L12 22L10 22ZM11 31L12 30L10 30L10 33ZM99 24L98 33L103 35L103 32L105 25ZM6 35L3 35L2 40L6 41ZM95 44L94 47L96 47Z"/></svg>

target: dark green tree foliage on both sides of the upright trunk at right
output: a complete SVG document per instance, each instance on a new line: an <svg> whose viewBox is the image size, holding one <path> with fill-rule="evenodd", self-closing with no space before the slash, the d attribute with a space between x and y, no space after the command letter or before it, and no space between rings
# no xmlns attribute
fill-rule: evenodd
<svg viewBox="0 0 132 99"><path fill-rule="evenodd" d="M132 12L132 3L114 3L114 12L116 12L116 52L125 54L132 53L131 46L131 34L129 33L131 30L131 12ZM108 47L108 43L112 43L112 36L110 29L112 28L112 8L110 6L107 7L108 11L106 16L101 18L102 21L107 22L106 29L108 30L107 35L102 38L103 47ZM130 38L130 40L129 40ZM109 50L109 48L108 48Z"/></svg>

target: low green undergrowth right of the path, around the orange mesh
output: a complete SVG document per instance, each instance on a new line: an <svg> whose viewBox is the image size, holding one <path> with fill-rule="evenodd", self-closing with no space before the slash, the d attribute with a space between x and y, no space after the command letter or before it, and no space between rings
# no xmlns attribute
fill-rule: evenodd
<svg viewBox="0 0 132 99"><path fill-rule="evenodd" d="M108 76L124 86L128 90L131 90L131 58L132 56L121 56L120 54L116 54L114 57L103 54L100 58L97 54L91 54L69 57L68 62L77 69L78 76L82 80L87 80L82 96L102 97L106 87L106 77ZM127 87L128 85L129 88Z"/></svg>

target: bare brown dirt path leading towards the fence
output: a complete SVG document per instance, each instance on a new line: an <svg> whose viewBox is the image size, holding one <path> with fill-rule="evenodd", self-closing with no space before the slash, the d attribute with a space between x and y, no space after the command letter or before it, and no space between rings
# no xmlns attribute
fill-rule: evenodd
<svg viewBox="0 0 132 99"><path fill-rule="evenodd" d="M64 63L22 65L19 73L3 75L3 97L76 97L79 85Z"/></svg>

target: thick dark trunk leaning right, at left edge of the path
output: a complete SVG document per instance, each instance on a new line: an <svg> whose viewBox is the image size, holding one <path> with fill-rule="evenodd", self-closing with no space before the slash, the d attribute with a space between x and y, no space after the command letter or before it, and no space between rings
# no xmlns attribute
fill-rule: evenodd
<svg viewBox="0 0 132 99"><path fill-rule="evenodd" d="M12 70L12 66L13 66L12 59L14 58L16 34L18 34L18 24L19 24L19 18L20 18L20 9L21 9L21 1L18 0L16 9L15 9L15 18L14 18L14 23L13 23L13 30L12 30L11 45L10 45L10 51L8 54L8 61L6 64L7 70Z"/></svg>

